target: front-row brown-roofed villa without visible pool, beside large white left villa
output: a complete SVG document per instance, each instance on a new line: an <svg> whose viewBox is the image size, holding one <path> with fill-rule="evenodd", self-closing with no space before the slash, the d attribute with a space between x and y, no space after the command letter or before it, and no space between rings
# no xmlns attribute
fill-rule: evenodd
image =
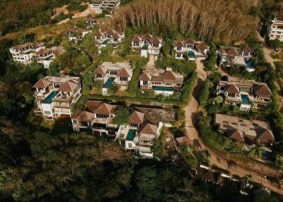
<svg viewBox="0 0 283 202"><path fill-rule="evenodd" d="M74 131L91 131L96 136L115 137L117 125L113 123L117 105L88 100L83 110L78 110L71 117Z"/></svg>

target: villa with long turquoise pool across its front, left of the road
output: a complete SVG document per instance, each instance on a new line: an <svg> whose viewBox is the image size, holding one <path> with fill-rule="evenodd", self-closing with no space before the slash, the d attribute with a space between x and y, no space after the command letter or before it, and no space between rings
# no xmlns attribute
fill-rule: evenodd
<svg viewBox="0 0 283 202"><path fill-rule="evenodd" d="M180 91L184 76L171 68L147 69L139 76L139 89L141 92L153 90L157 95L169 96Z"/></svg>

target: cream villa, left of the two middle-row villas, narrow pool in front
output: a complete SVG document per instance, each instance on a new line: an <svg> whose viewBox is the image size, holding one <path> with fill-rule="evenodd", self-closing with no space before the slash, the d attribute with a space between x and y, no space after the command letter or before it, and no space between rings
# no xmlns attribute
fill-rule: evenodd
<svg viewBox="0 0 283 202"><path fill-rule="evenodd" d="M103 62L94 71L96 80L103 81L103 95L108 95L108 89L115 83L120 90L126 90L132 79L133 69L127 62Z"/></svg>

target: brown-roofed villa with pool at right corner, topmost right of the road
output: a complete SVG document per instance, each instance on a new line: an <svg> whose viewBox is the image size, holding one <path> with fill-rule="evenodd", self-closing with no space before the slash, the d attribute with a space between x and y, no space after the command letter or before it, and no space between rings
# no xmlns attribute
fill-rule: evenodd
<svg viewBox="0 0 283 202"><path fill-rule="evenodd" d="M248 46L244 48L220 47L219 55L221 64L244 67L248 72L255 71L250 61L253 51Z"/></svg>

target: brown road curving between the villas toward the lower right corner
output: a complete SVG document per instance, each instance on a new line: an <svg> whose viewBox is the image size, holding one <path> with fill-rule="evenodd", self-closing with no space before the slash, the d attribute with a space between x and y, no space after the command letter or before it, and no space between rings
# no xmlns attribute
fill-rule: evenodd
<svg viewBox="0 0 283 202"><path fill-rule="evenodd" d="M278 194L283 194L283 189L280 185L270 182L268 179L265 179L265 175L269 177L277 177L278 172L276 170L270 169L270 167L263 165L260 162L248 161L245 162L241 158L231 156L226 153L219 153L218 150L210 148L205 145L202 139L200 138L199 133L197 132L196 121L197 114L200 114L199 105L197 102L197 97L202 88L202 83L205 78L207 78L207 73L203 70L203 64L200 61L197 61L197 73L198 80L197 85L193 91L193 96L185 108L186 114L186 136L190 140L195 140L195 148L197 150L208 150L210 153L209 162L212 165L221 167L224 170L229 170L231 174L236 174L239 177L244 177L246 174L252 175L252 181L258 184L262 184L271 191L277 192Z"/></svg>

